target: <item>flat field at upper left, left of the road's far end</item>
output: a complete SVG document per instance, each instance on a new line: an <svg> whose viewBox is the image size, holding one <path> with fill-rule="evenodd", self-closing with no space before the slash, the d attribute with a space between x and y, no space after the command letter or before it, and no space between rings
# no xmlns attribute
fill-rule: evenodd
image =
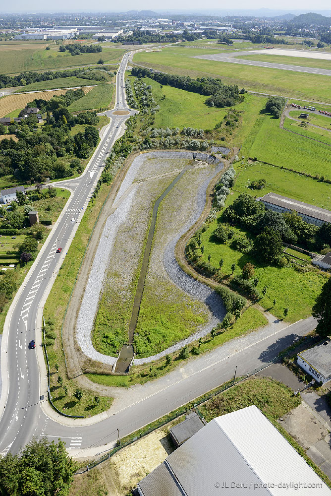
<svg viewBox="0 0 331 496"><path fill-rule="evenodd" d="M59 52L59 45L51 45L50 50L39 47L30 50L8 50L1 52L1 72L16 74L18 72L56 69L79 65L95 64L99 59L107 62L118 62L125 50L104 48L100 53L81 54L74 57L69 52Z"/></svg>

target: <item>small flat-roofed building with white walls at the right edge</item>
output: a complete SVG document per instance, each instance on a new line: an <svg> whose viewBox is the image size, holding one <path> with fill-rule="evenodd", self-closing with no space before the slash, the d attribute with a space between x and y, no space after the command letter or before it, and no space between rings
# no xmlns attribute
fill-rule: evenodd
<svg viewBox="0 0 331 496"><path fill-rule="evenodd" d="M331 341L327 340L317 344L309 350L302 351L297 355L297 363L317 382L328 382L331 379Z"/></svg>

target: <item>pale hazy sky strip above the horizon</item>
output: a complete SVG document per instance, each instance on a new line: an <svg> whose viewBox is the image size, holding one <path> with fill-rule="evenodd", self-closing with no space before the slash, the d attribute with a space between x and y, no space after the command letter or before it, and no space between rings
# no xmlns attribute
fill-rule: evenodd
<svg viewBox="0 0 331 496"><path fill-rule="evenodd" d="M0 11L2 12L26 12L26 11L125 11L125 10L164 10L167 9L256 9L261 7L269 7L272 9L290 10L324 10L330 9L330 0L276 0L272 4L265 0L208 0L201 2L200 0L123 0L120 2L109 0L57 0L56 2L48 3L45 0L12 0L5 2L1 0Z"/></svg>

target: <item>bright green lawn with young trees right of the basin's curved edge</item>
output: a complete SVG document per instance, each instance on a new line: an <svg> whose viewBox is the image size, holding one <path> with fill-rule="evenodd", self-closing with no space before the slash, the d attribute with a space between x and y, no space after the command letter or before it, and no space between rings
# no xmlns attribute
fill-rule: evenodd
<svg viewBox="0 0 331 496"><path fill-rule="evenodd" d="M260 305L269 309L273 315L283 318L284 308L288 308L287 322L295 322L300 318L311 315L312 307L316 297L320 294L323 284L328 280L328 276L320 271L300 273L292 267L275 267L264 265L250 254L243 254L230 247L229 244L217 243L213 237L213 232L219 225L218 220L212 222L207 231L202 234L202 246L204 246L203 259L207 262L208 255L211 255L211 264L219 266L222 258L222 274L230 277L231 265L235 263L234 275L240 275L241 269L247 262L255 266L255 277L259 279L257 286L261 293L267 286L266 296L260 300ZM243 230L236 230L237 235L244 234ZM249 237L249 234L246 233ZM274 306L273 300L276 299Z"/></svg>

